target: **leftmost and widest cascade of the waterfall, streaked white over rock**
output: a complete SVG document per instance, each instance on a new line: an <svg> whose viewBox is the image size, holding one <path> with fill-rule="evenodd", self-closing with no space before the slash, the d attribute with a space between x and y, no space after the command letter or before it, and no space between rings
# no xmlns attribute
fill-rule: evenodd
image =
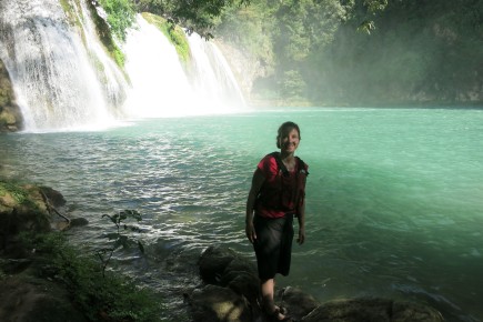
<svg viewBox="0 0 483 322"><path fill-rule="evenodd" d="M108 97L92 68L92 52L88 53L81 37L67 23L59 1L1 3L0 58L10 73L26 129L49 131L110 123ZM87 44L94 38L84 33Z"/></svg>

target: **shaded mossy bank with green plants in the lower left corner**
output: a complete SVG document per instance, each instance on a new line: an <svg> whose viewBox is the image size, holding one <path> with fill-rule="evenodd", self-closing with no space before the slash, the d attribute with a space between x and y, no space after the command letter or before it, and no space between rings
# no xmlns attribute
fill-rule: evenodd
<svg viewBox="0 0 483 322"><path fill-rule="evenodd" d="M56 190L0 181L0 321L159 321L159 294L69 243ZM107 264L105 261L102 264Z"/></svg>

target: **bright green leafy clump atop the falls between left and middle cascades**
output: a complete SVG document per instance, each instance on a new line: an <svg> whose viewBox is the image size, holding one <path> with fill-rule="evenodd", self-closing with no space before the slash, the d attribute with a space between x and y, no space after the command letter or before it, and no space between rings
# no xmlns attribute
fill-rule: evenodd
<svg viewBox="0 0 483 322"><path fill-rule="evenodd" d="M131 0L99 0L108 13L108 23L112 33L125 40L125 32L135 21L135 7Z"/></svg>

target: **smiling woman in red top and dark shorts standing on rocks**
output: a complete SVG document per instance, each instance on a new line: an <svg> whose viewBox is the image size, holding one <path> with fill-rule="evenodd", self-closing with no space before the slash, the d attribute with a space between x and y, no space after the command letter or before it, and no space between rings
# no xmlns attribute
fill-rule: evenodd
<svg viewBox="0 0 483 322"><path fill-rule="evenodd" d="M246 200L246 238L253 244L261 282L262 306L273 321L289 321L286 310L274 303L275 274L289 274L293 218L299 222L298 242L305 241L304 195L309 167L294 155L300 129L293 122L279 128L276 148L253 173Z"/></svg>

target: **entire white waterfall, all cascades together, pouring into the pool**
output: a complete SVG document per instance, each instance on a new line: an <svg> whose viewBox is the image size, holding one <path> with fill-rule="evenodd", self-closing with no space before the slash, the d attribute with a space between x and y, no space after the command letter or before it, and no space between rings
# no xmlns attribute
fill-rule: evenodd
<svg viewBox="0 0 483 322"><path fill-rule="evenodd" d="M77 27L68 23L59 0L0 2L0 59L27 131L99 129L132 117L224 113L243 107L213 43L189 37L191 59L183 67L164 34L139 14L122 44L127 61L121 71L98 39L85 2L68 3Z"/></svg>

